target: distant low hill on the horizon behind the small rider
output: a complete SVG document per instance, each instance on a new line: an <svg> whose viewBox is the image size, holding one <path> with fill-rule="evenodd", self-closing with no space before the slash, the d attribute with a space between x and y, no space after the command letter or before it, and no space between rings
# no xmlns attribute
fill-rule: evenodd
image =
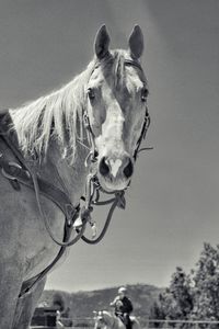
<svg viewBox="0 0 219 329"><path fill-rule="evenodd" d="M146 319L149 316L150 307L162 292L153 285L135 284L127 285L135 315ZM110 303L117 295L118 287L96 290L91 292L66 293L61 291L45 291L41 303L53 305L54 296L60 295L65 302L65 307L69 307L69 317L88 318L93 316L93 310L111 309Z"/></svg>

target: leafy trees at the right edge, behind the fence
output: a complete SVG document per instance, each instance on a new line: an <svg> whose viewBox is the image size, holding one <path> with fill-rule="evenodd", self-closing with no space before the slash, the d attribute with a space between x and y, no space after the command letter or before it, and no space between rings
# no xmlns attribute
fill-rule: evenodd
<svg viewBox="0 0 219 329"><path fill-rule="evenodd" d="M219 321L219 245L204 243L196 268L186 275L182 268L171 277L170 286L159 296L151 316L163 319Z"/></svg>

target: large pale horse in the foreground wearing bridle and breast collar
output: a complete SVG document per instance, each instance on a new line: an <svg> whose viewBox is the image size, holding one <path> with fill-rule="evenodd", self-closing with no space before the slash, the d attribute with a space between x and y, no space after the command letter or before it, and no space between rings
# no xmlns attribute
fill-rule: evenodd
<svg viewBox="0 0 219 329"><path fill-rule="evenodd" d="M28 328L46 274L92 225L92 186L123 203L148 126L142 52L139 26L127 50L111 50L103 25L83 72L0 114L1 329Z"/></svg>

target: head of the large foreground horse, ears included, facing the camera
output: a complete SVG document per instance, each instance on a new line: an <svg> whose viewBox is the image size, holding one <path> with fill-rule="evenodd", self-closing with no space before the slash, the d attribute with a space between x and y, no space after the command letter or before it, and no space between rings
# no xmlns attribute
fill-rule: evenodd
<svg viewBox="0 0 219 329"><path fill-rule="evenodd" d="M128 50L111 50L105 25L94 42L95 65L87 86L87 113L97 157L97 179L107 191L128 186L146 129L147 79L140 66L143 35L134 27Z"/></svg>

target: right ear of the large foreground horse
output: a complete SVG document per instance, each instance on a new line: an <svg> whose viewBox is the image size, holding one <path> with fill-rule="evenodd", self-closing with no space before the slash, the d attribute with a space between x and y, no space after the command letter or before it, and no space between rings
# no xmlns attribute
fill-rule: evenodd
<svg viewBox="0 0 219 329"><path fill-rule="evenodd" d="M138 59L143 53L143 34L139 25L135 25L129 36L128 45L132 58Z"/></svg>

